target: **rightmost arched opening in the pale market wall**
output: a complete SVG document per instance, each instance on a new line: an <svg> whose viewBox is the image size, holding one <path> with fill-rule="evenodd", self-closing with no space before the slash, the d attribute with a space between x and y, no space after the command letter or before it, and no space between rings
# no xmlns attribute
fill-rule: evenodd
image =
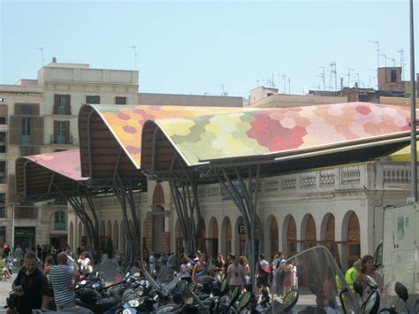
<svg viewBox="0 0 419 314"><path fill-rule="evenodd" d="M344 269L361 256L361 230L354 211L347 211L342 221L342 263Z"/></svg>

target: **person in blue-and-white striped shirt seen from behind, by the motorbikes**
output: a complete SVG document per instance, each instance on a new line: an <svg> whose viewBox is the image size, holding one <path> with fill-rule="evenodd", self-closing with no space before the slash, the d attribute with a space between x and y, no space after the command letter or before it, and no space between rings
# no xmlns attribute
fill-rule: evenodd
<svg viewBox="0 0 419 314"><path fill-rule="evenodd" d="M54 301L57 311L74 308L74 287L79 281L80 274L67 264L67 254L57 255L57 265L50 269L50 281L54 291Z"/></svg>

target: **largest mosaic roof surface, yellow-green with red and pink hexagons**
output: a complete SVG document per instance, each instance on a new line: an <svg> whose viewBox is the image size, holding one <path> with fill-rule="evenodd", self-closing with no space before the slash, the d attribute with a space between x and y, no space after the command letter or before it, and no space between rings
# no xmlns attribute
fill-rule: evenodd
<svg viewBox="0 0 419 314"><path fill-rule="evenodd" d="M332 148L406 136L407 107L334 103L263 111L232 111L155 123L187 165L214 159Z"/></svg>

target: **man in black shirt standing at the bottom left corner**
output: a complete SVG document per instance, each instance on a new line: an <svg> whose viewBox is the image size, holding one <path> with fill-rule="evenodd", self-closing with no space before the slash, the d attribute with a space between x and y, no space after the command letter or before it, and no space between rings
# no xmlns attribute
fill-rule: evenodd
<svg viewBox="0 0 419 314"><path fill-rule="evenodd" d="M32 251L25 254L24 266L13 281L11 288L18 295L19 314L30 314L35 309L47 309L50 303L48 282L38 268L38 260Z"/></svg>

